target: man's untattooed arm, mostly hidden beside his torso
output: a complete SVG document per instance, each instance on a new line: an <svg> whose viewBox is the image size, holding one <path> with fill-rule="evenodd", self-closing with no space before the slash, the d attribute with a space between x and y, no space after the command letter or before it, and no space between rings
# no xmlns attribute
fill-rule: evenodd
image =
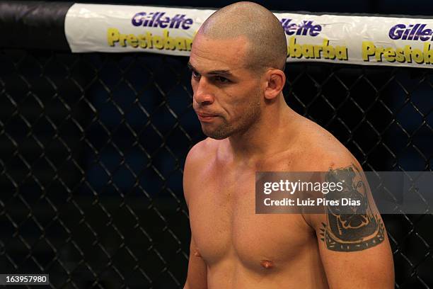
<svg viewBox="0 0 433 289"><path fill-rule="evenodd" d="M187 159L185 161L185 168L183 171L183 192L185 196L186 203L189 207L191 199L194 198L192 195L192 182L197 181L197 170L200 170L203 157L200 156L202 153L203 143L192 147L190 152L187 155ZM190 219L193 218L194 215L191 215ZM193 232L191 236L190 243L190 258L188 261L188 272L187 272L187 280L185 281L184 289L206 289L207 288L207 265L204 263L202 256L200 256L199 251L197 250L197 246L195 245L193 239Z"/></svg>

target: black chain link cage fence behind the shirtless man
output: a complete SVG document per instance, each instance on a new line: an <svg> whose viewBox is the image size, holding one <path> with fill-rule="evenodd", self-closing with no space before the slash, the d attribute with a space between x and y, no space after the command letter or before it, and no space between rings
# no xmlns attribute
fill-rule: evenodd
<svg viewBox="0 0 433 289"><path fill-rule="evenodd" d="M0 268L51 288L182 288L187 57L0 50ZM431 171L429 69L287 64L284 95L366 171ZM383 215L396 288L433 288L432 215Z"/></svg>

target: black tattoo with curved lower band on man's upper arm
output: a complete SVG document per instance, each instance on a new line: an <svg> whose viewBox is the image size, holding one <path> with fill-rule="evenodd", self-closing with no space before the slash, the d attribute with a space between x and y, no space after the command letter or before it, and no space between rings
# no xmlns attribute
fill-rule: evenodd
<svg viewBox="0 0 433 289"><path fill-rule="evenodd" d="M326 198L359 200L361 206L327 206L328 224L322 223L321 240L333 251L361 251L383 242L385 229L381 219L369 205L368 187L362 172L354 164L341 169L330 169L326 181L344 183L343 191L328 193Z"/></svg>

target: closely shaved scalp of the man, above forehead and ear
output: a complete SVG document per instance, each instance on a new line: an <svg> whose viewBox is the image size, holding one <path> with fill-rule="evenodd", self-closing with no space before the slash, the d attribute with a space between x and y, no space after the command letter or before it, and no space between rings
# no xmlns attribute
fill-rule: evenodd
<svg viewBox="0 0 433 289"><path fill-rule="evenodd" d="M238 2L214 12L197 33L211 39L245 37L248 40L246 67L284 69L286 35L281 23L267 8L253 2Z"/></svg>

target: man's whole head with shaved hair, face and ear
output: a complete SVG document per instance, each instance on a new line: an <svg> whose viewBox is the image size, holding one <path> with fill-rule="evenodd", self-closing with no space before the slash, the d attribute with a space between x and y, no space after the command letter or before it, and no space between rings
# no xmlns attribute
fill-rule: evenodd
<svg viewBox="0 0 433 289"><path fill-rule="evenodd" d="M245 135L284 103L287 42L278 18L252 2L214 12L192 42L192 106L204 135Z"/></svg>

